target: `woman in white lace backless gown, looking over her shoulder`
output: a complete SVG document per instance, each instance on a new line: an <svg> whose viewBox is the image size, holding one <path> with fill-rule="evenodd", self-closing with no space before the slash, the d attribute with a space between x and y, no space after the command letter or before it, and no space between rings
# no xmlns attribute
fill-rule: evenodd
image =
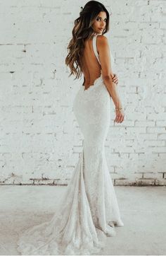
<svg viewBox="0 0 166 256"><path fill-rule="evenodd" d="M116 234L115 225L124 226L104 149L110 97L115 103L115 122L124 120L108 40L103 35L108 31L109 13L103 4L89 1L79 14L65 64L76 78L84 74L73 105L84 146L56 214L51 221L29 228L20 237L18 251L24 255L98 253L106 237Z"/></svg>

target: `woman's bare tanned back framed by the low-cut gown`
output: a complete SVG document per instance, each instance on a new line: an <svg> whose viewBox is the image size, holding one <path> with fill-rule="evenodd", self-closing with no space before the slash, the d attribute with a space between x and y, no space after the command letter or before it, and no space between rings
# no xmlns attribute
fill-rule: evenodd
<svg viewBox="0 0 166 256"><path fill-rule="evenodd" d="M83 86L85 90L94 84L96 78L101 76L101 65L94 54L92 38L85 40L82 54L82 73L84 74Z"/></svg>

